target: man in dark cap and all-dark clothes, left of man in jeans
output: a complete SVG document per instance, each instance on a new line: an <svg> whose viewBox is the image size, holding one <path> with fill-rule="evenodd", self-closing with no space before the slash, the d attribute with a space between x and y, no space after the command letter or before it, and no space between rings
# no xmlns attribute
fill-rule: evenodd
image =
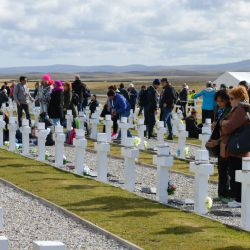
<svg viewBox="0 0 250 250"><path fill-rule="evenodd" d="M145 117L145 125L146 125L146 134L148 139L154 137L153 130L156 123L155 116L157 114L158 109L158 99L159 94L157 89L160 87L161 83L159 79L155 79L153 84L147 88L146 92L146 105L144 107L144 117Z"/></svg>

